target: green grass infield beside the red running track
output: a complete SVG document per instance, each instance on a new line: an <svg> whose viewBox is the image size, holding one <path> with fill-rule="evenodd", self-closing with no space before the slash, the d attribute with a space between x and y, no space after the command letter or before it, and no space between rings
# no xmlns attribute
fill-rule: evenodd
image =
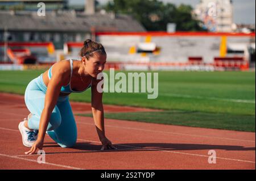
<svg viewBox="0 0 256 181"><path fill-rule="evenodd" d="M0 71L0 91L24 94L42 72ZM70 98L90 102L90 91ZM105 93L103 102L164 110L105 113L113 119L255 132L255 72L159 71L157 99L147 99L147 93Z"/></svg>

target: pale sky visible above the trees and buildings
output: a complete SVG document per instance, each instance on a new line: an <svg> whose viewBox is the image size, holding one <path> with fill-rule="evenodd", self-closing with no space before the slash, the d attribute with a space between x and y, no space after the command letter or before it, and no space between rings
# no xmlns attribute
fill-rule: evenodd
<svg viewBox="0 0 256 181"><path fill-rule="evenodd" d="M98 0L100 3L106 3L109 0ZM200 0L160 0L163 2L174 3L179 5L184 3L195 7ZM70 4L85 3L85 0L69 0ZM233 0L234 5L234 23L255 24L255 0Z"/></svg>

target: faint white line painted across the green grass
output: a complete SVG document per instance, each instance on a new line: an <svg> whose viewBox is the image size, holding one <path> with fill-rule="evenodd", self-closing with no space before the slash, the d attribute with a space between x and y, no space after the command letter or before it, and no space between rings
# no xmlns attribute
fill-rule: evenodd
<svg viewBox="0 0 256 181"><path fill-rule="evenodd" d="M195 99L208 99L208 100L221 100L227 102L235 102L235 103L248 103L248 104L255 104L255 100L246 100L246 99L225 99L225 98L214 98L214 97L204 97L198 95L185 95L185 94L159 94L169 97L177 97L177 98L195 98Z"/></svg>

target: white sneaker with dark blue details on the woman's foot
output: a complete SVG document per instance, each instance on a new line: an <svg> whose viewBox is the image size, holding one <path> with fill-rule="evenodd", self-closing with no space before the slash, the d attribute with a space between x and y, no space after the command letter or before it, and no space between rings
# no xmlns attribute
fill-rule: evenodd
<svg viewBox="0 0 256 181"><path fill-rule="evenodd" d="M24 126L24 123L25 121L21 121L19 123L19 131L20 131L20 134L22 134L22 142L24 146L31 147L36 141L36 139L38 138L38 134L37 134L38 132L27 129Z"/></svg>

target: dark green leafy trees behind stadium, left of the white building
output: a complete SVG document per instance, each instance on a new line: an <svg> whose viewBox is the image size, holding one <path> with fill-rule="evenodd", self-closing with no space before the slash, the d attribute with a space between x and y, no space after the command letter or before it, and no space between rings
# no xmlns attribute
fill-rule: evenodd
<svg viewBox="0 0 256 181"><path fill-rule="evenodd" d="M192 17L192 7L158 0L113 0L104 9L115 14L129 14L148 31L166 31L167 23L176 23L176 31L203 31Z"/></svg>

